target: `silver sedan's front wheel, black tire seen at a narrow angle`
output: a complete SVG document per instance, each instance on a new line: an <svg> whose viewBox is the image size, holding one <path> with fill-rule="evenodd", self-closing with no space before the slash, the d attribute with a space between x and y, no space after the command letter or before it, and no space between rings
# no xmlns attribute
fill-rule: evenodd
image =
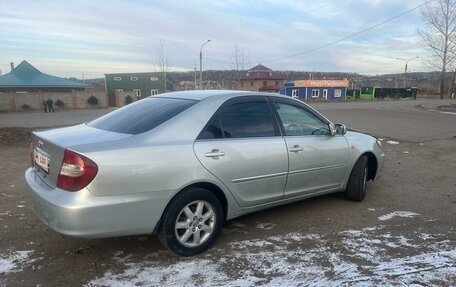
<svg viewBox="0 0 456 287"><path fill-rule="evenodd" d="M350 173L345 189L345 197L353 201L363 201L366 197L367 176L369 172L368 158L362 155Z"/></svg>

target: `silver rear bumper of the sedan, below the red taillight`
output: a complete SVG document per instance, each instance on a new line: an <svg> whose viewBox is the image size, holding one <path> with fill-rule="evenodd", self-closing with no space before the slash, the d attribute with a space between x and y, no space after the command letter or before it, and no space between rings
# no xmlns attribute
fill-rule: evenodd
<svg viewBox="0 0 456 287"><path fill-rule="evenodd" d="M51 188L33 168L25 172L37 216L58 233L80 238L151 234L172 192L94 196L88 189Z"/></svg>

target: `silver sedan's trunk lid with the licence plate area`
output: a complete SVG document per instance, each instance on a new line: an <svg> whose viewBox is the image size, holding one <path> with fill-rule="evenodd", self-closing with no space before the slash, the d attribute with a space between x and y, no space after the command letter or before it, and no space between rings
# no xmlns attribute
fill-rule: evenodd
<svg viewBox="0 0 456 287"><path fill-rule="evenodd" d="M52 188L56 187L66 148L111 142L131 137L81 124L72 127L35 131L32 133L32 158L38 176Z"/></svg>

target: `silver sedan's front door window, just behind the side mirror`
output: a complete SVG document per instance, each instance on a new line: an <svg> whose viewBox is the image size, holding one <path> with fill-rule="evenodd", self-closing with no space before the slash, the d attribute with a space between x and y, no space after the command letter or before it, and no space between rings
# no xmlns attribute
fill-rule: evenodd
<svg viewBox="0 0 456 287"><path fill-rule="evenodd" d="M329 125L312 112L291 104L275 102L274 108L286 136L330 135Z"/></svg>

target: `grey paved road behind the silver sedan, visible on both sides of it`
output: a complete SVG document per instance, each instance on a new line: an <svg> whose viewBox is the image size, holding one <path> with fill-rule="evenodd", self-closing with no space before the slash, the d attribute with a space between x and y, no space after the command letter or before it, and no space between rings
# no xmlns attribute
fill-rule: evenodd
<svg viewBox="0 0 456 287"><path fill-rule="evenodd" d="M456 100L316 103L312 106L331 121L345 123L351 129L395 140L420 142L456 136L456 114L442 114L432 110L439 105L448 104L456 104ZM52 114L3 113L0 114L0 127L79 124L110 111L112 109L72 110Z"/></svg>

